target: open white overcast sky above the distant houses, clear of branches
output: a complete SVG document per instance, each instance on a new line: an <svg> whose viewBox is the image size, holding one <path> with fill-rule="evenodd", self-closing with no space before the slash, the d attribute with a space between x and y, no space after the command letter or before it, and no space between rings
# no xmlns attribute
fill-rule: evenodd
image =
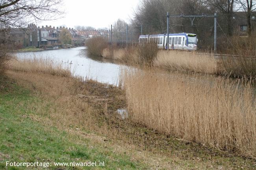
<svg viewBox="0 0 256 170"><path fill-rule="evenodd" d="M39 26L110 27L118 18L130 21L140 0L63 0L65 18L43 21Z"/></svg>

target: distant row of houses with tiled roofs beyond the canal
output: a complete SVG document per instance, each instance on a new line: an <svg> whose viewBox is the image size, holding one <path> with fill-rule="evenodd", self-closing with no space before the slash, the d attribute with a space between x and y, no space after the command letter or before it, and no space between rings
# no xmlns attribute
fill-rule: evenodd
<svg viewBox="0 0 256 170"><path fill-rule="evenodd" d="M63 29L69 31L74 46L84 45L87 38L108 36L108 31L103 29L78 31L64 26L52 27L46 25L37 27L35 24L28 24L26 28L9 29L9 42L13 48L57 46L61 44L60 34Z"/></svg>

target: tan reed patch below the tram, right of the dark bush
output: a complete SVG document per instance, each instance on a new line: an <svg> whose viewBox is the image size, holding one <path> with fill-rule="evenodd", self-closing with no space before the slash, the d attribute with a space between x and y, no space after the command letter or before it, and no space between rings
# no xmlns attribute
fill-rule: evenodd
<svg viewBox="0 0 256 170"><path fill-rule="evenodd" d="M195 51L159 51L154 65L160 68L199 73L219 73L214 55Z"/></svg>

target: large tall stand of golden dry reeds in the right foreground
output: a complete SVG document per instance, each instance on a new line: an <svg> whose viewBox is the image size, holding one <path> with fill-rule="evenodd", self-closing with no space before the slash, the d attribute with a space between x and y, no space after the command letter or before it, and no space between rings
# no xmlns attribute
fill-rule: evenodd
<svg viewBox="0 0 256 170"><path fill-rule="evenodd" d="M245 80L124 71L130 116L189 141L256 157L255 89Z"/></svg>

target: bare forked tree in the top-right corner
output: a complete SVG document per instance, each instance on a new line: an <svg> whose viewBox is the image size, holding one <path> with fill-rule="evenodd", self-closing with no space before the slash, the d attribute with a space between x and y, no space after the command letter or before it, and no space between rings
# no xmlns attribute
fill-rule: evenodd
<svg viewBox="0 0 256 170"><path fill-rule="evenodd" d="M242 7L242 9L246 13L247 17L247 24L248 24L248 35L251 35L252 32L252 24L251 24L251 17L252 12L256 10L256 2L255 0L237 0L237 3Z"/></svg>

